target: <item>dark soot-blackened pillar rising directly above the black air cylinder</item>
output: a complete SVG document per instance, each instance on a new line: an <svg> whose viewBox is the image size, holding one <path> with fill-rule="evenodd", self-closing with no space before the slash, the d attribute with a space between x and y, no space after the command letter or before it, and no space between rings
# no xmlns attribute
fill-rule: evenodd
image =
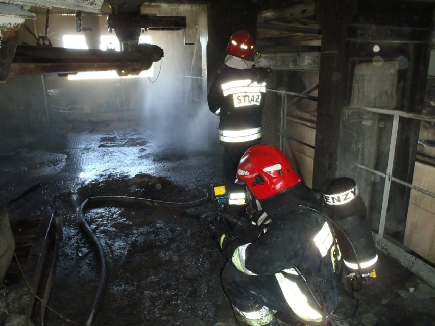
<svg viewBox="0 0 435 326"><path fill-rule="evenodd" d="M355 14L355 0L322 0L316 15L322 30L319 69L313 187L335 178L340 116L345 107L348 58L347 26Z"/></svg>

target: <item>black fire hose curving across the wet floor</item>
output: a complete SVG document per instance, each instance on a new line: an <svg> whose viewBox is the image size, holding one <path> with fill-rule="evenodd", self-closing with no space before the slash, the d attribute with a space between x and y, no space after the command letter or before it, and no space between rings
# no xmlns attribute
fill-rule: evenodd
<svg viewBox="0 0 435 326"><path fill-rule="evenodd" d="M93 244L95 245L96 249L98 250L99 254L99 260L100 260L100 281L98 284L98 289L95 294L95 298L93 300L92 306L88 312L88 315L86 317L86 320L84 322L85 326L91 326L92 322L95 318L96 311L100 308L101 299L104 295L104 291L106 289L106 283L107 283L107 261L106 261L106 255L104 254L103 246L101 245L100 240L94 235L92 230L89 228L89 225L86 223L86 220L84 218L85 215L85 206L88 203L99 203L99 202L107 202L107 200L111 200L112 202L117 202L119 204L131 204L131 203L143 203L150 206L162 206L162 207L196 207L200 206L202 204L205 204L209 198L204 197L202 199L196 200L195 202L165 202L163 200L156 200L156 199L147 199L147 198L136 198L136 197L125 197L125 196L98 196L98 197L89 197L87 198L79 207L79 213L78 213L78 220L80 227L88 236Z"/></svg>

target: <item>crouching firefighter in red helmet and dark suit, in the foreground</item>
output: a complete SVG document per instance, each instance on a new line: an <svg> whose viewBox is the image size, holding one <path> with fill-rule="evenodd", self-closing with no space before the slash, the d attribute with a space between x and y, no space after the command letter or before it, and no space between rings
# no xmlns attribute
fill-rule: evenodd
<svg viewBox="0 0 435 326"><path fill-rule="evenodd" d="M210 227L229 260L222 283L239 325L278 326L278 314L292 324L326 324L338 304L341 261L319 198L272 145L249 148L236 180L271 219L256 235Z"/></svg>

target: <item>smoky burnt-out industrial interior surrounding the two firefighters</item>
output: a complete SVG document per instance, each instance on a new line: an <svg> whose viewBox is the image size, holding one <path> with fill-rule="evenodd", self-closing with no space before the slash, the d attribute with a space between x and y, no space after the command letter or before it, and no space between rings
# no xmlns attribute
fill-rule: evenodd
<svg viewBox="0 0 435 326"><path fill-rule="evenodd" d="M435 325L434 13L1 1L0 325L237 326L208 232L223 150L207 92L241 29L272 70L262 143L310 188L353 178L367 207L375 272L330 323Z"/></svg>

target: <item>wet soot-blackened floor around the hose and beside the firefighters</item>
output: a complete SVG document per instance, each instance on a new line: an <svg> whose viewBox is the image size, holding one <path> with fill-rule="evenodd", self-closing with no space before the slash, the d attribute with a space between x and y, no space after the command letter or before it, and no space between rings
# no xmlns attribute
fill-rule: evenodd
<svg viewBox="0 0 435 326"><path fill-rule="evenodd" d="M75 128L21 135L15 142L4 139L0 150L0 197L7 203L17 238L32 224L29 221L41 216L53 213L63 219L45 315L48 326L83 324L98 289L98 252L78 221L78 207L85 199L128 196L156 203L195 202L206 196L210 183L220 181L217 144L210 150L185 148L128 124ZM93 324L237 325L220 284L225 261L207 231L215 211L210 202L186 208L107 199L87 205L84 218L107 259L107 282ZM379 255L378 277L359 293L357 316L334 324L433 324L435 290ZM9 274L2 286L6 299L14 282ZM341 312L350 315L354 302L346 296L341 300Z"/></svg>

